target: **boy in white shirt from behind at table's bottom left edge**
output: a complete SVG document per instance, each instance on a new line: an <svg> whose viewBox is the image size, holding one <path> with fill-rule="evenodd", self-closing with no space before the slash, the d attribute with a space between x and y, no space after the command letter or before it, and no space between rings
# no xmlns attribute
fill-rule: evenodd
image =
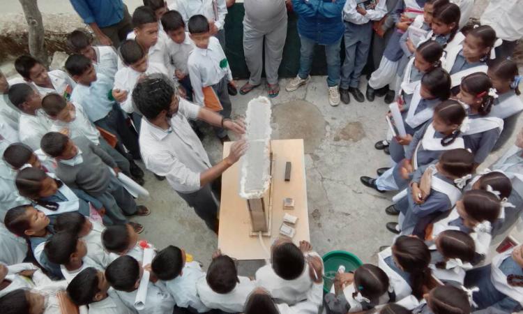
<svg viewBox="0 0 523 314"><path fill-rule="evenodd" d="M228 313L243 311L243 305L255 287L254 281L238 276L234 260L220 251L213 254L206 277L196 283L199 298L206 307Z"/></svg>

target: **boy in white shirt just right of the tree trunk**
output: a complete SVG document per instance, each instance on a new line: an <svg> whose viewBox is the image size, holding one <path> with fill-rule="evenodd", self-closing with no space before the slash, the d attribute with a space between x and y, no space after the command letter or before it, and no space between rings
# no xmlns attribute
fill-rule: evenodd
<svg viewBox="0 0 523 314"><path fill-rule="evenodd" d="M93 45L91 34L77 29L67 36L67 45L75 54L83 54L93 61L96 73L114 77L118 70L118 54L112 46Z"/></svg>

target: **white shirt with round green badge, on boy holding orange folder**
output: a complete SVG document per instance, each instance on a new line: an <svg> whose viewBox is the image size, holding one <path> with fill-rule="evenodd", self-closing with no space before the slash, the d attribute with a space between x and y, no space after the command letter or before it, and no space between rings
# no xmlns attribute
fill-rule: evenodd
<svg viewBox="0 0 523 314"><path fill-rule="evenodd" d="M229 62L225 68L220 68L220 62L227 60L220 46L220 41L215 37L209 38L207 49L195 47L189 54L188 69L190 84L195 92L195 103L203 105L204 92L202 88L218 84L227 75L227 80L232 81Z"/></svg>

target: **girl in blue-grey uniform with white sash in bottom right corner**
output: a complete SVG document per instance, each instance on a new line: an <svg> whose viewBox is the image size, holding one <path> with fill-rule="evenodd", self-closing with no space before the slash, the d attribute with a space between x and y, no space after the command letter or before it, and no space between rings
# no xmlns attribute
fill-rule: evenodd
<svg viewBox="0 0 523 314"><path fill-rule="evenodd" d="M523 310L523 246L499 253L492 264L467 272L465 286L478 287L475 310L515 313Z"/></svg>

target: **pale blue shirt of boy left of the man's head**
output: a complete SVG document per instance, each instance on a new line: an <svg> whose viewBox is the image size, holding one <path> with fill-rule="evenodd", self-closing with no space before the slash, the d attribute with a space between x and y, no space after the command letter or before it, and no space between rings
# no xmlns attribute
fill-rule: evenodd
<svg viewBox="0 0 523 314"><path fill-rule="evenodd" d="M107 75L96 73L96 81L90 86L77 84L71 94L71 101L84 107L84 111L91 122L103 119L112 110L114 100L109 100L113 80Z"/></svg>

